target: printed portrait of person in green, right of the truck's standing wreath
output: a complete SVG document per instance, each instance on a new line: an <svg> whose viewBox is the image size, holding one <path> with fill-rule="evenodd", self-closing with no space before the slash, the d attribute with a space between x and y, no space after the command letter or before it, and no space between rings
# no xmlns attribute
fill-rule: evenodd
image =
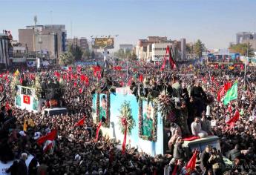
<svg viewBox="0 0 256 175"><path fill-rule="evenodd" d="M151 119L151 105L146 105L146 110L146 113L143 114L142 135L151 137L153 131L153 119Z"/></svg>

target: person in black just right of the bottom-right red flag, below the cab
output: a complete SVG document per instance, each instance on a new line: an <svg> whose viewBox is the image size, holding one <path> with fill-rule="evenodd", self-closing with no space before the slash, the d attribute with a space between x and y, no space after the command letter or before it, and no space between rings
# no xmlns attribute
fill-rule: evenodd
<svg viewBox="0 0 256 175"><path fill-rule="evenodd" d="M200 157L200 165L203 170L203 175L206 175L211 170L211 164L209 158L211 156L211 146L207 145Z"/></svg>

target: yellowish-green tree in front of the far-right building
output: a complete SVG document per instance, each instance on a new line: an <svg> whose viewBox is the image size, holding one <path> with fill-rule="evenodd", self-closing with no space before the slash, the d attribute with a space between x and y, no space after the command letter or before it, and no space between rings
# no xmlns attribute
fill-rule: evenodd
<svg viewBox="0 0 256 175"><path fill-rule="evenodd" d="M253 57L255 56L255 53L253 52L252 45L249 43L243 43L243 44L232 44L229 47L230 51L233 53L240 53L242 56L247 56L247 50L248 50L248 56Z"/></svg>

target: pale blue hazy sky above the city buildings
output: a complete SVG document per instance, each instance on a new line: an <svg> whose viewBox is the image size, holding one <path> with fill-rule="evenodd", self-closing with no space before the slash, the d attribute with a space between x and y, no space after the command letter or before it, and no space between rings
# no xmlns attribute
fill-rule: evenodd
<svg viewBox="0 0 256 175"><path fill-rule="evenodd" d="M19 28L33 24L35 15L38 24L65 24L68 38L119 34L116 47L147 36L168 36L187 42L201 39L206 47L223 48L235 42L235 33L256 31L256 0L0 0L0 4L0 31L11 30L14 39Z"/></svg>

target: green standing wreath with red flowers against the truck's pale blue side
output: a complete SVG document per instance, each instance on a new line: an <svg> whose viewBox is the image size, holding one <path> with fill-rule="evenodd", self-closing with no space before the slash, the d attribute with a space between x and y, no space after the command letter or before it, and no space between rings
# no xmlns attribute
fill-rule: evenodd
<svg viewBox="0 0 256 175"><path fill-rule="evenodd" d="M125 133L125 125L127 125L127 131L131 134L131 130L135 126L135 120L131 115L131 105L129 102L125 101L121 105L120 116L119 116L119 125L122 133Z"/></svg>

